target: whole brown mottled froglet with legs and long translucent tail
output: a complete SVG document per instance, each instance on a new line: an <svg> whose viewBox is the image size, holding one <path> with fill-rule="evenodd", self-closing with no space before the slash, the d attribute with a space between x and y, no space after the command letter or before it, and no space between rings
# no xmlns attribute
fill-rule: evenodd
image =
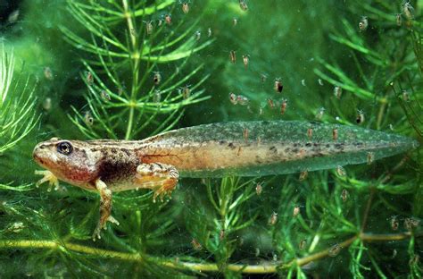
<svg viewBox="0 0 423 279"><path fill-rule="evenodd" d="M112 216L112 192L150 189L170 194L179 177L262 176L371 163L418 146L395 134L355 126L300 121L212 123L143 140L38 143L33 157L46 171L37 185L58 180L100 194L100 238Z"/></svg>

